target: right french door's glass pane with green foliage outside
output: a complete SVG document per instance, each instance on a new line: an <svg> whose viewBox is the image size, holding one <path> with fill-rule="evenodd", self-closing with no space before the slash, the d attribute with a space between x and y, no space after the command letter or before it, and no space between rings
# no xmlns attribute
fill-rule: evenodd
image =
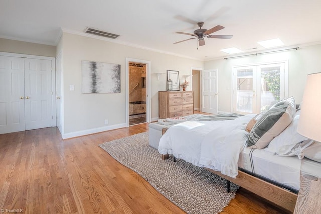
<svg viewBox="0 0 321 214"><path fill-rule="evenodd" d="M280 66L261 68L261 112L280 100Z"/></svg>

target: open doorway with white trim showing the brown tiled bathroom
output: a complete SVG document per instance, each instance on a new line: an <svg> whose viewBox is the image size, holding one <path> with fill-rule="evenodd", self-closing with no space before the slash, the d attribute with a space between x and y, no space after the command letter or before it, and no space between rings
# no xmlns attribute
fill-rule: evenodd
<svg viewBox="0 0 321 214"><path fill-rule="evenodd" d="M126 58L126 122L150 122L150 62Z"/></svg>

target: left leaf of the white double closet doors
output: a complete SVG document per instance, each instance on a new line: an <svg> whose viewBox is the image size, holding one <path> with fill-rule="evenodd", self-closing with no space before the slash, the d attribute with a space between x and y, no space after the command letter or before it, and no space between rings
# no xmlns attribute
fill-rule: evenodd
<svg viewBox="0 0 321 214"><path fill-rule="evenodd" d="M24 59L0 56L0 134L24 130Z"/></svg>

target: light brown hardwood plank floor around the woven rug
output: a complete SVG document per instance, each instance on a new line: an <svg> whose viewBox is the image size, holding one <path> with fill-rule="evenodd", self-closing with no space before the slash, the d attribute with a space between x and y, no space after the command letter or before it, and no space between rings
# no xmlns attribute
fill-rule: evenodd
<svg viewBox="0 0 321 214"><path fill-rule="evenodd" d="M140 124L62 140L57 128L0 135L0 209L23 213L184 213L98 147ZM18 210L19 211L19 210ZM281 213L239 189L223 213Z"/></svg>

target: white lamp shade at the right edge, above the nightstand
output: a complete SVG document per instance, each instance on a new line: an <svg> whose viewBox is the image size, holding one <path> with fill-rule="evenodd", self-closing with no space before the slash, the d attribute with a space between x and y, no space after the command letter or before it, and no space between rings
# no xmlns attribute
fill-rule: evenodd
<svg viewBox="0 0 321 214"><path fill-rule="evenodd" d="M321 73L307 76L297 132L321 142Z"/></svg>

